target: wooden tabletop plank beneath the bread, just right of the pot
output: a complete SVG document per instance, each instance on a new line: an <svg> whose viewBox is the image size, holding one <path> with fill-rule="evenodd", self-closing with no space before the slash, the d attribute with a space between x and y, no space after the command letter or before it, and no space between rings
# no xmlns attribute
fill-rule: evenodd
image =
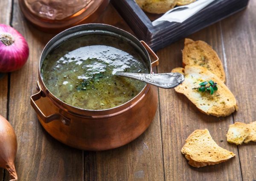
<svg viewBox="0 0 256 181"><path fill-rule="evenodd" d="M214 24L189 36L194 40L209 43L223 59L220 24ZM182 65L183 40L157 52L160 58L158 72L171 72ZM230 80L227 80L229 83ZM236 145L226 141L226 130L233 123L232 115L216 118L204 115L184 95L178 95L173 89L159 89L160 112L163 137L163 158L166 181L240 181L239 155ZM236 154L236 157L213 166L195 168L189 166L180 150L186 138L195 129L209 129L216 143ZM221 140L224 140L221 142Z"/></svg>

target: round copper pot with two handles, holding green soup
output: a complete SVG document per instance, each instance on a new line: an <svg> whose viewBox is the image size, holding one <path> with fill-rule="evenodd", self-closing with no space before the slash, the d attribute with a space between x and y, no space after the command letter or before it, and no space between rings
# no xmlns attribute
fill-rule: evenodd
<svg viewBox="0 0 256 181"><path fill-rule="evenodd" d="M120 147L141 135L154 118L157 109L157 89L147 84L130 101L105 110L87 110L70 106L47 89L41 77L41 66L47 54L73 37L84 34L108 34L131 42L145 60L152 73L158 57L128 32L104 24L85 24L67 29L56 35L45 46L40 57L38 93L31 96L31 105L44 129L58 141L84 150L105 150ZM154 57L151 63L148 52Z"/></svg>

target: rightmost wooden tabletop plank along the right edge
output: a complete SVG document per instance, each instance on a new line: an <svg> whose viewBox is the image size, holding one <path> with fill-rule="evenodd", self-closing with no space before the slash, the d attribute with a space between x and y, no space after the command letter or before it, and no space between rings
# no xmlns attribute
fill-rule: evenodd
<svg viewBox="0 0 256 181"><path fill-rule="evenodd" d="M256 120L256 1L250 0L245 11L221 21L230 88L236 95L239 111L235 121ZM244 181L256 180L256 143L243 144L239 158Z"/></svg>

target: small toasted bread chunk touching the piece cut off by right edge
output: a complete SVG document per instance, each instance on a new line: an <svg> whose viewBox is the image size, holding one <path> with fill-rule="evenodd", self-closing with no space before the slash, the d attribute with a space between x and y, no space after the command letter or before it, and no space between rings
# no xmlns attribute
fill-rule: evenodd
<svg viewBox="0 0 256 181"><path fill-rule="evenodd" d="M235 124L230 124L227 132L227 142L236 145L242 144L249 133L249 126L245 123L236 122Z"/></svg>

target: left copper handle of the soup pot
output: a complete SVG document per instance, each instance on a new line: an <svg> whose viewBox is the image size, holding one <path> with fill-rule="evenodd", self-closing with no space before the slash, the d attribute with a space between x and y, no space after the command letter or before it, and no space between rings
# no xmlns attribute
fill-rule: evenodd
<svg viewBox="0 0 256 181"><path fill-rule="evenodd" d="M30 97L30 104L35 109L35 112L39 115L39 117L44 121L44 123L49 123L53 120L61 119L63 124L70 126L70 119L65 118L63 115L61 115L59 113L54 113L49 116L44 115L44 113L41 111L41 109L35 103L35 101L39 100L41 97L44 96L41 86L39 85L39 82L37 82L37 89L39 90L39 92Z"/></svg>

